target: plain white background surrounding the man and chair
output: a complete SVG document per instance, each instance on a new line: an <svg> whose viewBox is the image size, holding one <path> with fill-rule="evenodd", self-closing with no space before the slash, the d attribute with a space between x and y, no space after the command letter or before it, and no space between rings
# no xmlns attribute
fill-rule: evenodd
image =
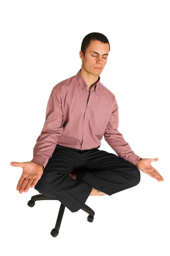
<svg viewBox="0 0 170 256"><path fill-rule="evenodd" d="M170 7L165 0L0 2L1 255L169 256L170 249ZM34 188L16 190L45 122L52 88L77 74L85 35L104 34L111 45L102 84L119 105L119 131L142 158L158 158L158 182L111 196L91 196L92 223L59 201L27 203ZM102 139L100 150L115 153Z"/></svg>

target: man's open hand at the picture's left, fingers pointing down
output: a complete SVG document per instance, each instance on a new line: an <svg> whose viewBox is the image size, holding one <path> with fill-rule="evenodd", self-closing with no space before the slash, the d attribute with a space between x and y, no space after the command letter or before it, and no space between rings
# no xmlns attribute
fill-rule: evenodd
<svg viewBox="0 0 170 256"><path fill-rule="evenodd" d="M43 166L35 162L11 162L11 166L22 167L23 173L17 184L17 190L22 194L28 192L28 189L33 188L43 173Z"/></svg>

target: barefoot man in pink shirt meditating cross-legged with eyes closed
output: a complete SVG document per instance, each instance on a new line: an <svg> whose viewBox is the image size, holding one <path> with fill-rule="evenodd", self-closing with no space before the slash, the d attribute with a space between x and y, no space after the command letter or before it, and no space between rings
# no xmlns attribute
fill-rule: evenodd
<svg viewBox="0 0 170 256"><path fill-rule="evenodd" d="M77 75L54 86L48 100L45 123L31 162L11 162L22 167L17 184L20 193L35 186L56 197L71 212L82 208L89 195L113 195L140 182L139 169L163 181L151 162L132 151L119 125L114 94L100 81L110 51L108 38L90 33L79 52L82 67ZM104 135L116 154L99 150ZM77 170L77 175L71 172Z"/></svg>

